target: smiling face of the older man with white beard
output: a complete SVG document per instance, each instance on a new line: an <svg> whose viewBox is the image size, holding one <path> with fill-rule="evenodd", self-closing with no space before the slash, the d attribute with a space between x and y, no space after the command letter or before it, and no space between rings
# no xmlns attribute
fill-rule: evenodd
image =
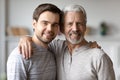
<svg viewBox="0 0 120 80"><path fill-rule="evenodd" d="M67 12L64 16L64 34L71 44L79 44L84 39L85 17L81 12Z"/></svg>

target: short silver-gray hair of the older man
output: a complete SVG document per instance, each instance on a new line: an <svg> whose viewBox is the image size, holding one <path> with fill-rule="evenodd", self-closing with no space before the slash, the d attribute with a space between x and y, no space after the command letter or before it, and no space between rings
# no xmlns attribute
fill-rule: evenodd
<svg viewBox="0 0 120 80"><path fill-rule="evenodd" d="M70 11L82 12L85 17L85 21L87 22L86 11L81 5L68 5L68 6L64 7L62 10L63 15Z"/></svg>

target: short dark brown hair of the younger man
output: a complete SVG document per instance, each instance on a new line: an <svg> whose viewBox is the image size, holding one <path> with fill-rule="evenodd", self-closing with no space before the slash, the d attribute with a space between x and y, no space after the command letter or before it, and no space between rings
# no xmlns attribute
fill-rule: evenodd
<svg viewBox="0 0 120 80"><path fill-rule="evenodd" d="M62 16L61 10L57 6L50 4L50 3L44 3L44 4L38 5L38 7L34 10L33 19L38 21L40 14L45 11L58 13L60 16L59 24L61 24L61 16Z"/></svg>

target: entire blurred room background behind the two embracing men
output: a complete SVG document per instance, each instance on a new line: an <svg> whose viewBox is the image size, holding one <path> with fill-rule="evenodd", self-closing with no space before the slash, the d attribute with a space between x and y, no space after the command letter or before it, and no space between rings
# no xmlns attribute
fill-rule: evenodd
<svg viewBox="0 0 120 80"><path fill-rule="evenodd" d="M97 41L113 61L120 80L120 0L0 0L0 80L6 80L6 62L22 35L32 35L32 13L41 3L62 9L80 4L87 12L88 41ZM57 38L65 39L62 34ZM11 64L12 65L12 64Z"/></svg>

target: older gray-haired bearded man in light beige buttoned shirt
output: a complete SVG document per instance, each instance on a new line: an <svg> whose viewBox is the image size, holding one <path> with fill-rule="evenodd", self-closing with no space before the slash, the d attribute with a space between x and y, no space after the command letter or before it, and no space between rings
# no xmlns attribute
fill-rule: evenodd
<svg viewBox="0 0 120 80"><path fill-rule="evenodd" d="M49 45L56 58L57 80L115 80L111 59L101 49L91 48L84 38L87 23L84 8L65 7L62 20L61 31L66 40L54 40Z"/></svg>

